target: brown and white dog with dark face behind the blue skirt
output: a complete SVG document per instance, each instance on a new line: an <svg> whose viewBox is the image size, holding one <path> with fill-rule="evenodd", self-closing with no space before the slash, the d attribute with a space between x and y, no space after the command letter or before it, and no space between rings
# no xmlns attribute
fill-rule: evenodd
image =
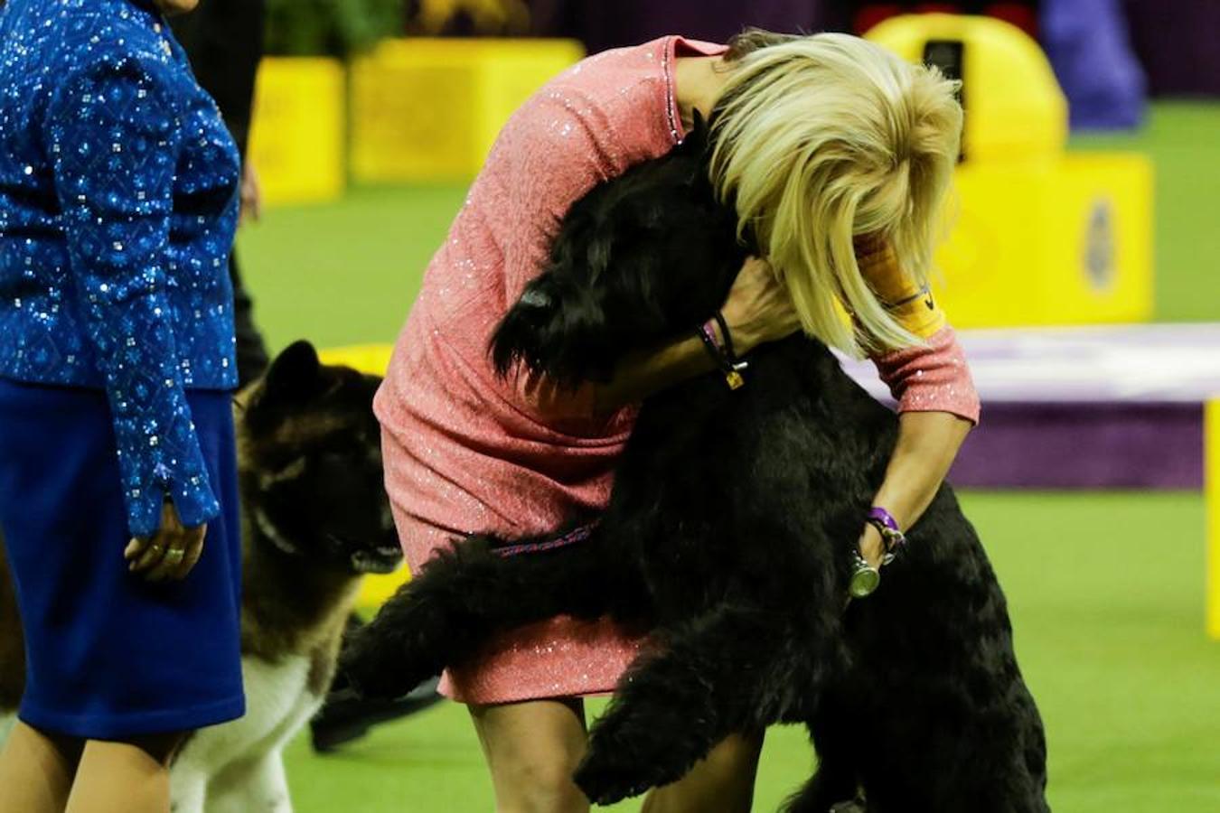
<svg viewBox="0 0 1220 813"><path fill-rule="evenodd" d="M189 737L171 770L174 813L292 811L283 747L326 697L360 577L401 561L372 413L378 382L296 343L234 402L246 714ZM23 680L0 557L0 740Z"/></svg>

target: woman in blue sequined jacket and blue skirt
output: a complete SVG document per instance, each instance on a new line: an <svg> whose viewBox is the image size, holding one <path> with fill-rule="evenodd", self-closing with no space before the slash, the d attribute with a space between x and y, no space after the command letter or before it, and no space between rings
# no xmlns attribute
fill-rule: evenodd
<svg viewBox="0 0 1220 813"><path fill-rule="evenodd" d="M168 809L172 746L244 711L239 165L162 17L195 2L0 11L0 529L29 656L0 813L62 811L73 778L82 811Z"/></svg>

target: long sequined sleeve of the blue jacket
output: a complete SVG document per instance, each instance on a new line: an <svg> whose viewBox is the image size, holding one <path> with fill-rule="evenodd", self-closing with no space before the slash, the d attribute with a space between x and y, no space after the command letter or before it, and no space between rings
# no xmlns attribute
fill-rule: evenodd
<svg viewBox="0 0 1220 813"><path fill-rule="evenodd" d="M106 382L128 528L156 531L172 499L188 527L220 512L192 423L166 258L183 134L166 68L132 57L90 65L45 119L73 290Z"/></svg>

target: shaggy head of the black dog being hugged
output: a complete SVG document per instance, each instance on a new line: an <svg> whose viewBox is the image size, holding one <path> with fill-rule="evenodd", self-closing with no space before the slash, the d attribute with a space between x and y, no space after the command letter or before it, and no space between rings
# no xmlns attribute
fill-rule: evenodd
<svg viewBox="0 0 1220 813"><path fill-rule="evenodd" d="M741 268L736 230L708 179L699 123L667 156L572 205L547 268L492 336L497 371L522 362L565 384L605 380L625 353L688 333L723 304Z"/></svg>

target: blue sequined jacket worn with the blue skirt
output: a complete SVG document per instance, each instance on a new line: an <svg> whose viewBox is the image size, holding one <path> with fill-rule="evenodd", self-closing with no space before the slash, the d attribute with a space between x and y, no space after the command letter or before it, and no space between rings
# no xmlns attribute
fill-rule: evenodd
<svg viewBox="0 0 1220 813"><path fill-rule="evenodd" d="M105 388L135 535L218 512L184 390L237 385L238 178L151 5L0 10L0 375Z"/></svg>

